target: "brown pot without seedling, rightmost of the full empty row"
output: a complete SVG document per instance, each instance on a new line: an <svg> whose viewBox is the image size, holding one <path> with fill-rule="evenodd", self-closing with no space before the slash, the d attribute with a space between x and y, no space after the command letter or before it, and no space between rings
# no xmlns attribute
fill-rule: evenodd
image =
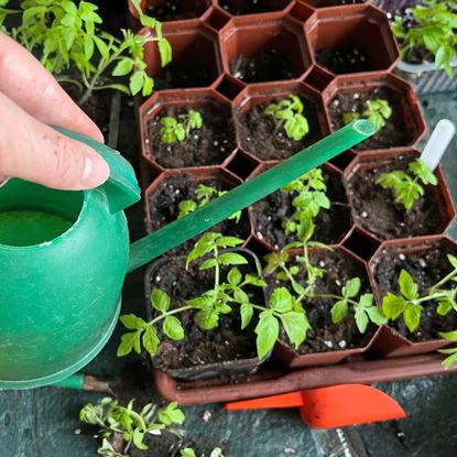
<svg viewBox="0 0 457 457"><path fill-rule="evenodd" d="M400 58L387 15L368 4L319 9L305 32L314 62L335 75L390 70Z"/></svg>

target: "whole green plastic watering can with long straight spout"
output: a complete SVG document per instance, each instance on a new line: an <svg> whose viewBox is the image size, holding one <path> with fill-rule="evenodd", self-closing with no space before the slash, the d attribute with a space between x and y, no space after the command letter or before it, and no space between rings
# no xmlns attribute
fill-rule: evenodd
<svg viewBox="0 0 457 457"><path fill-rule="evenodd" d="M126 274L213 227L374 133L358 120L129 246L123 208L140 199L130 164L93 146L110 178L85 192L11 179L0 188L0 389L58 382L87 364L111 336Z"/></svg>

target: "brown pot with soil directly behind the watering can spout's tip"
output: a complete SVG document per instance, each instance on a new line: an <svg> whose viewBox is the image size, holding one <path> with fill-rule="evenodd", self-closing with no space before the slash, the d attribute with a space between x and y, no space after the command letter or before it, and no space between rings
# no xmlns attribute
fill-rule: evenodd
<svg viewBox="0 0 457 457"><path fill-rule="evenodd" d="M335 131L345 122L346 112L363 115L367 100L384 99L392 115L378 133L351 151L374 152L412 148L423 137L426 124L420 101L412 87L394 75L341 76L336 78L323 94L330 128Z"/></svg>

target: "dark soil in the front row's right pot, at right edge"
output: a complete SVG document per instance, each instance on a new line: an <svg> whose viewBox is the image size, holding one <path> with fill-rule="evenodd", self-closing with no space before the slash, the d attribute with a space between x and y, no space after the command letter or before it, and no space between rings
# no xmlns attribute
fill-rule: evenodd
<svg viewBox="0 0 457 457"><path fill-rule="evenodd" d="M420 294L426 292L428 287L436 284L453 270L447 260L447 253L456 254L445 243L415 252L384 251L374 266L374 280L380 296L384 296L388 292L394 294L400 292L398 281L402 269L413 276L418 285ZM413 341L440 339L438 331L451 331L457 328L457 314L450 311L447 316L439 316L436 313L436 301L423 303L421 324L413 334L410 334L402 317L389 325Z"/></svg>

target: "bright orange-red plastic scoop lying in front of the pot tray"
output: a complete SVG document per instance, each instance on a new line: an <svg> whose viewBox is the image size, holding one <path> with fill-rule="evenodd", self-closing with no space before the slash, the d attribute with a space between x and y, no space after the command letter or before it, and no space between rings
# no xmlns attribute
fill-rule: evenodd
<svg viewBox="0 0 457 457"><path fill-rule="evenodd" d="M227 403L227 411L298 407L313 428L335 428L404 418L404 410L387 393L364 384L302 390L263 399Z"/></svg>

